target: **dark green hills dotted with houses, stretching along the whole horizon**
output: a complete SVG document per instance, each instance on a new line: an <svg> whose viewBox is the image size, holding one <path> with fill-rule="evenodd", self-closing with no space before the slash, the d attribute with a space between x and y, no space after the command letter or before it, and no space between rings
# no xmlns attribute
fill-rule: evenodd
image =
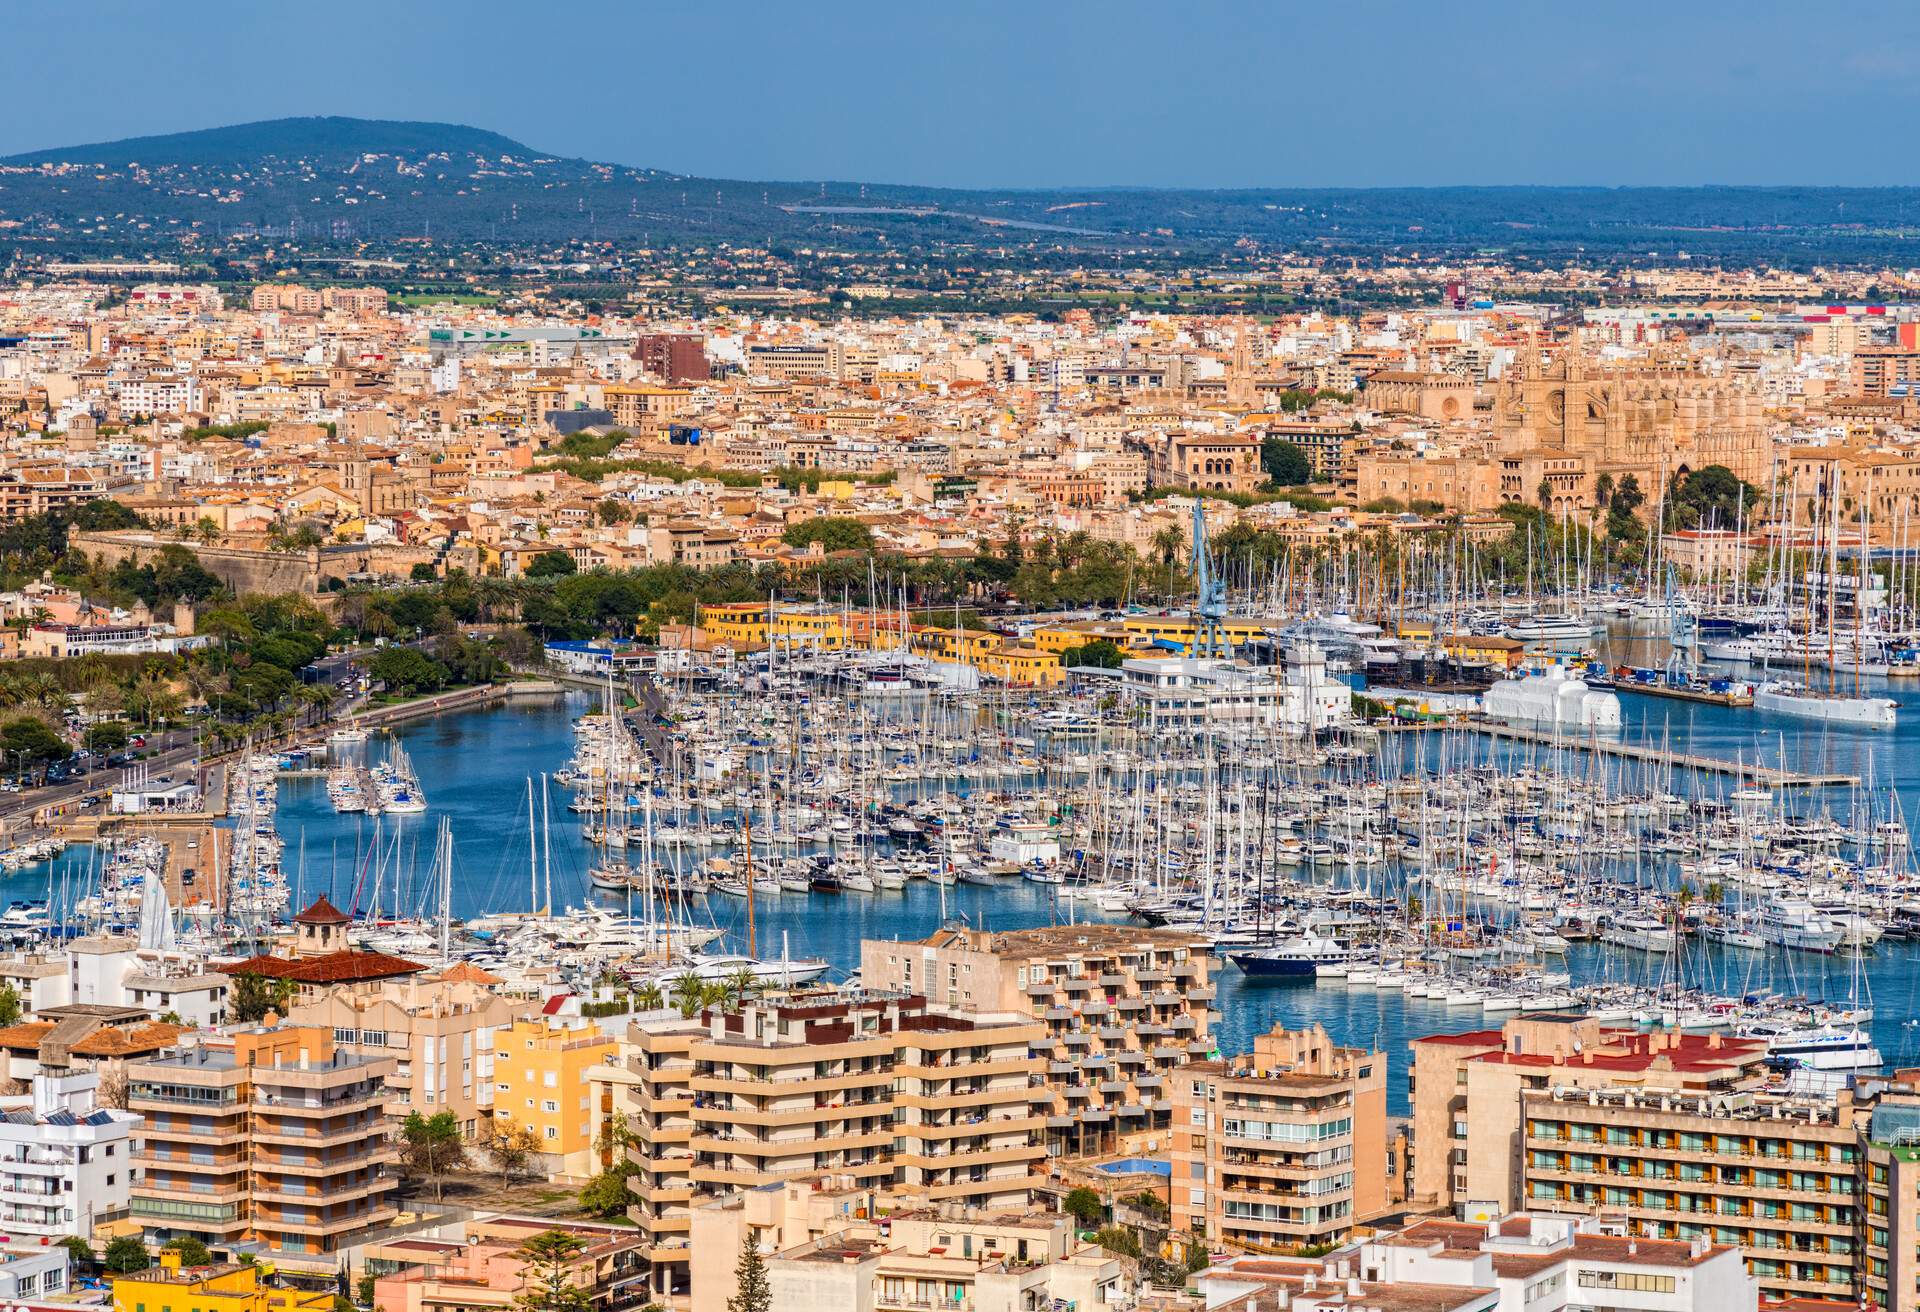
<svg viewBox="0 0 1920 1312"><path fill-rule="evenodd" d="M634 154L649 154L636 142ZM0 161L0 254L171 252L184 234L303 246L432 236L530 248L710 242L1000 252L1033 267L1238 250L1501 252L1542 261L1920 263L1914 188L1452 186L941 190L751 182L541 156L451 123L273 119ZM111 217L108 217L111 215Z"/></svg>

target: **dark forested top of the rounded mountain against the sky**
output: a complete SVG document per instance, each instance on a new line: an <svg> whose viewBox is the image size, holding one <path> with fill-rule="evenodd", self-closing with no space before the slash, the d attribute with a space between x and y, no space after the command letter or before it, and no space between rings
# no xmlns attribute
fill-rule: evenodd
<svg viewBox="0 0 1920 1312"><path fill-rule="evenodd" d="M92 146L33 150L23 156L0 159L0 163L142 163L154 167L169 163L252 163L265 158L332 161L367 154L538 156L538 152L511 136L459 123L405 123L399 119L348 119L330 115L263 119L261 123L234 123L232 127L209 127L198 133L129 136Z"/></svg>

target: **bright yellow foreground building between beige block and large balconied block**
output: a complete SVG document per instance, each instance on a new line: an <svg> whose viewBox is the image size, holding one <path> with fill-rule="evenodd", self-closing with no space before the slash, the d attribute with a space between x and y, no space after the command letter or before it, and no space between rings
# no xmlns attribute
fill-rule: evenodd
<svg viewBox="0 0 1920 1312"><path fill-rule="evenodd" d="M597 1116L588 1070L611 1062L618 1043L593 1022L518 1020L493 1033L493 1124L540 1139L549 1172L591 1176Z"/></svg>

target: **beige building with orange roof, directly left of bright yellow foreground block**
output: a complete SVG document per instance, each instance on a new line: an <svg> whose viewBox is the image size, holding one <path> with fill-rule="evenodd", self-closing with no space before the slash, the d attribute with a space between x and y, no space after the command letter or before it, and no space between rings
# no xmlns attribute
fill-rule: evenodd
<svg viewBox="0 0 1920 1312"><path fill-rule="evenodd" d="M493 1118L495 1037L534 1012L534 1003L495 993L493 976L457 964L430 978L384 980L378 991L334 987L288 1008L288 1024L317 1026L336 1047L392 1057L390 1116L453 1112L478 1135Z"/></svg>

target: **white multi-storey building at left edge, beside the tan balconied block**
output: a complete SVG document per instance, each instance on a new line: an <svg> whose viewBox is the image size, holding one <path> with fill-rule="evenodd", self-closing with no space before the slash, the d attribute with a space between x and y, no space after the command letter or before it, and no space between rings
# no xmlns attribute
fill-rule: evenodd
<svg viewBox="0 0 1920 1312"><path fill-rule="evenodd" d="M127 1214L140 1118L98 1106L100 1076L35 1076L0 1099L0 1224L46 1239L94 1233Z"/></svg>

